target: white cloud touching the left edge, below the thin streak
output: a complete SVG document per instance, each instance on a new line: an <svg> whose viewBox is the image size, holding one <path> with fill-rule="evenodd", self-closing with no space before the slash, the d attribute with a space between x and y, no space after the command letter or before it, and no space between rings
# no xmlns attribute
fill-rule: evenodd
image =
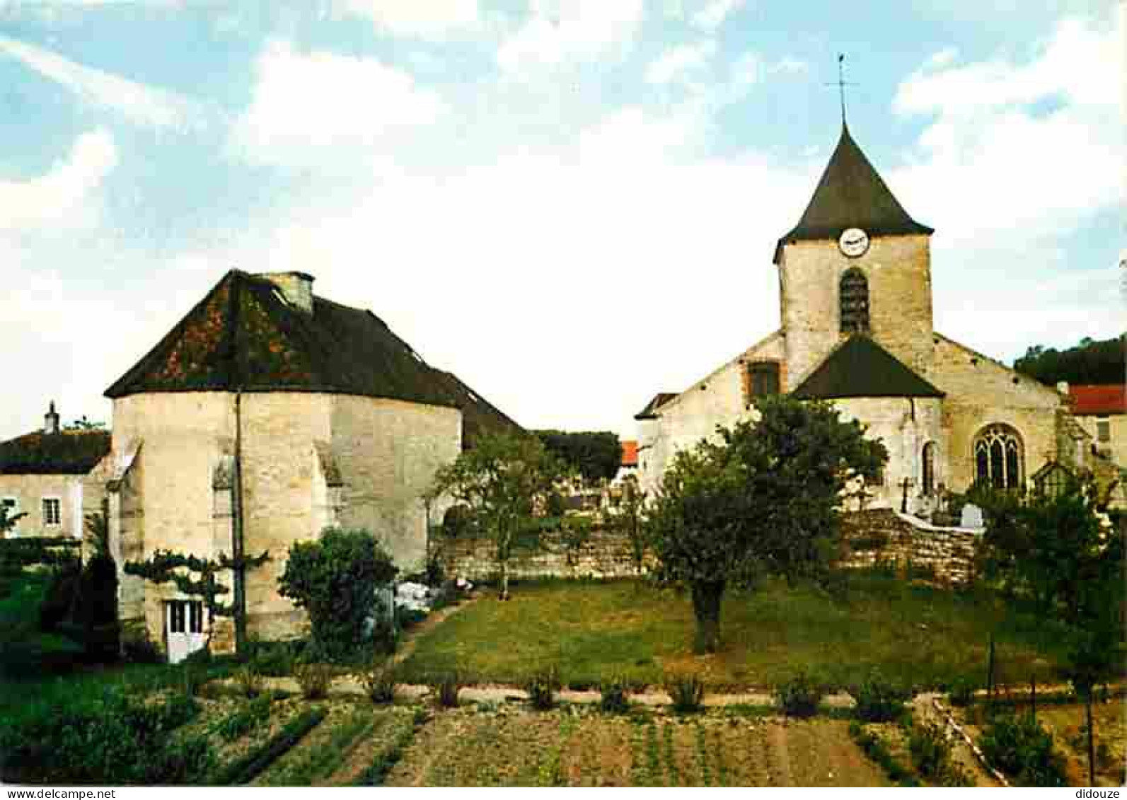
<svg viewBox="0 0 1127 800"><path fill-rule="evenodd" d="M117 165L114 140L105 130L83 133L65 160L30 180L0 180L0 231L51 224L71 228L89 221L91 194Z"/></svg>

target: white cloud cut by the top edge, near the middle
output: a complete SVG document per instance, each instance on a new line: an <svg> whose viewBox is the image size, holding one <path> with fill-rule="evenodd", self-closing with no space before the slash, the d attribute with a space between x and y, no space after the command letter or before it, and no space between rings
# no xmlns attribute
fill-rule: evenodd
<svg viewBox="0 0 1127 800"><path fill-rule="evenodd" d="M497 51L503 70L559 66L629 44L645 12L642 0L532 0L527 20Z"/></svg>

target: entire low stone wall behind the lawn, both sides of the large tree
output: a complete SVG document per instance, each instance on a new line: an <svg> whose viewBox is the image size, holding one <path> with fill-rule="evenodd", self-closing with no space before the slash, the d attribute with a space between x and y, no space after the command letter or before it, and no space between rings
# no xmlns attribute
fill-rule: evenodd
<svg viewBox="0 0 1127 800"><path fill-rule="evenodd" d="M840 566L852 568L888 565L904 575L925 571L941 583L959 584L974 571L975 548L980 531L915 524L890 509L845 514L842 517L845 555ZM536 550L514 548L509 558L513 578L632 578L635 569L628 536L596 528L575 549L559 532L540 536ZM437 544L446 575L483 580L497 574L494 544L483 539L447 539ZM644 560L644 571L653 563ZM911 569L909 569L911 567Z"/></svg>

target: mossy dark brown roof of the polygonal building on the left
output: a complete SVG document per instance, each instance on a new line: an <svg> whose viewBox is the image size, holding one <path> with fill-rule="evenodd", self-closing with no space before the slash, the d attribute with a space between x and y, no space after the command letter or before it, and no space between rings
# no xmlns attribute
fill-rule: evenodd
<svg viewBox="0 0 1127 800"><path fill-rule="evenodd" d="M435 370L371 311L313 297L308 314L270 281L232 269L128 372L108 398L141 392L309 391L463 411L464 444L521 428L450 373Z"/></svg>

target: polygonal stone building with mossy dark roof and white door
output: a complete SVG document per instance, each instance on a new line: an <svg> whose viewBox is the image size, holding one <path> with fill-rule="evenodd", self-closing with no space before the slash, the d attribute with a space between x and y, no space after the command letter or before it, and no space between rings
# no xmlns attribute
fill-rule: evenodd
<svg viewBox="0 0 1127 800"><path fill-rule="evenodd" d="M267 552L233 586L224 579L222 599L245 610L251 635L294 635L304 612L277 592L294 542L362 527L399 567L418 567L441 518L421 500L436 470L486 434L522 430L371 311L312 285L305 273L230 270L106 390L119 616L170 660L208 638L229 650L231 620L124 574L127 561Z"/></svg>

